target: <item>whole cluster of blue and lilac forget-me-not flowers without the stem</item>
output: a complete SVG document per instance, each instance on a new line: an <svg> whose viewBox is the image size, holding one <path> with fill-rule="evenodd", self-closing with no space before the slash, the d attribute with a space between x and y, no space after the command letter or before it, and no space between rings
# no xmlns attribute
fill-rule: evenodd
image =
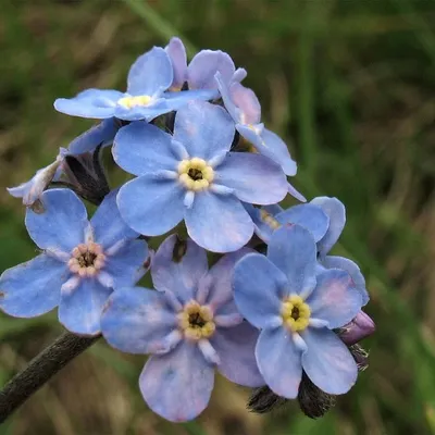
<svg viewBox="0 0 435 435"><path fill-rule="evenodd" d="M315 417L307 409L321 395L356 383L368 358L359 341L374 331L360 269L328 254L344 204L306 202L289 184L296 162L261 122L246 76L222 51L187 64L172 38L136 60L125 92L55 100L59 112L102 121L9 189L40 253L0 276L0 309L32 318L59 307L72 333L148 355L141 394L174 422L203 411L215 370L260 388L249 403L259 412L266 394ZM134 176L116 188L108 147ZM287 194L301 203L284 210ZM98 206L90 221L83 200ZM219 254L210 268L207 251ZM149 269L153 288L139 283Z"/></svg>

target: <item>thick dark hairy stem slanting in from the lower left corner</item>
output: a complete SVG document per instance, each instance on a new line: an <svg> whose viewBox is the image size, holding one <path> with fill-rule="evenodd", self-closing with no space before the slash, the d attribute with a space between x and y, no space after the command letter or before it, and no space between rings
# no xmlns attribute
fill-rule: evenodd
<svg viewBox="0 0 435 435"><path fill-rule="evenodd" d="M79 337L64 333L36 356L21 373L16 374L0 391L0 423L35 394L55 373L79 356L96 337Z"/></svg>

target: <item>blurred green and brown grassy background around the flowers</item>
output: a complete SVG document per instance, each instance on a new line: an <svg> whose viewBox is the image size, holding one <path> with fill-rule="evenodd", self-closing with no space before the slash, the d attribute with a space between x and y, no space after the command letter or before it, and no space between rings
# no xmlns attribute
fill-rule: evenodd
<svg viewBox="0 0 435 435"><path fill-rule="evenodd" d="M266 417L219 380L208 410L174 425L140 398L141 357L101 340L30 398L1 434L435 434L435 3L425 0L1 2L0 272L36 253L20 200L28 179L91 122L57 97L125 87L137 55L173 35L248 70L263 120L288 140L295 185L338 197L335 252L362 268L377 324L370 368L327 417ZM55 313L0 315L0 384L61 332Z"/></svg>

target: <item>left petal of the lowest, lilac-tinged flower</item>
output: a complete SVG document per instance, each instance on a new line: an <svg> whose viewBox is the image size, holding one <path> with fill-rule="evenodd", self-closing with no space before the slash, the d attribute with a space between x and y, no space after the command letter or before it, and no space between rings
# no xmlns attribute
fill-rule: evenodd
<svg viewBox="0 0 435 435"><path fill-rule="evenodd" d="M169 309L164 296L140 287L114 291L101 316L107 341L129 353L164 352L165 338L176 327L176 314Z"/></svg>

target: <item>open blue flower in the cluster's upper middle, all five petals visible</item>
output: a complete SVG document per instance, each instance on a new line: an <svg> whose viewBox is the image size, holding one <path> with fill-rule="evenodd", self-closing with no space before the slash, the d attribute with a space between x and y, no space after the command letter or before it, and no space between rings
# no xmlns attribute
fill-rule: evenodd
<svg viewBox="0 0 435 435"><path fill-rule="evenodd" d="M184 219L189 236L208 250L229 252L246 245L253 224L240 201L275 203L287 183L272 160L228 152L234 133L225 110L203 101L177 112L174 136L144 122L121 128L114 160L138 175L117 196L125 222L157 236Z"/></svg>

